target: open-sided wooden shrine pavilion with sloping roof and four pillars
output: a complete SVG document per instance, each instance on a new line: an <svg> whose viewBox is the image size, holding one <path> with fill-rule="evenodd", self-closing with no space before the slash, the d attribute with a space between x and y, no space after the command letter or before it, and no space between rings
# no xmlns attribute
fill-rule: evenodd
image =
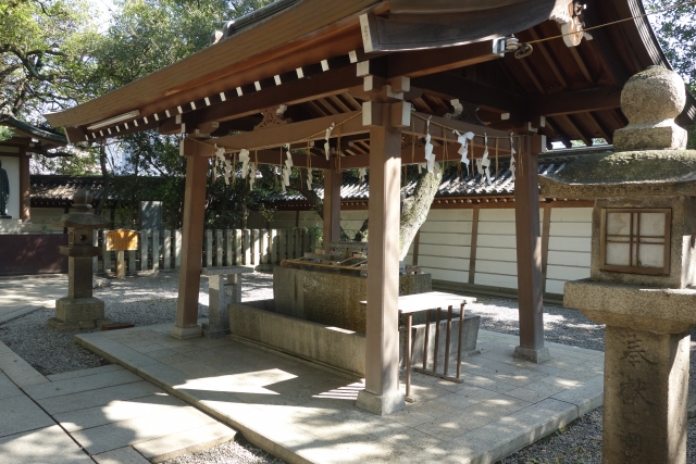
<svg viewBox="0 0 696 464"><path fill-rule="evenodd" d="M514 156L517 353L543 362L537 154L551 141L611 142L626 124L623 84L648 65L669 67L644 13L639 0L589 0L586 8L568 0L279 0L231 23L206 50L46 117L64 127L71 142L152 129L186 135L184 249L172 330L179 338L201 334L211 159L241 162L252 172L258 163L323 170L326 243L339 239L340 171L369 167L364 394L388 414L403 402L395 239L401 166L460 161L464 146L467 161ZM583 32L583 25L620 20ZM695 117L689 96L680 122Z"/></svg>

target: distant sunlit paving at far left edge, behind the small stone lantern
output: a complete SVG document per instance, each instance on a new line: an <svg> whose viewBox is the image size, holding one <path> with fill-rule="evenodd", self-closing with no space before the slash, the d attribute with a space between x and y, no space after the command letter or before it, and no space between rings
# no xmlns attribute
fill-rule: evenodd
<svg viewBox="0 0 696 464"><path fill-rule="evenodd" d="M0 279L0 324L38 308L54 308L67 294L67 277Z"/></svg>

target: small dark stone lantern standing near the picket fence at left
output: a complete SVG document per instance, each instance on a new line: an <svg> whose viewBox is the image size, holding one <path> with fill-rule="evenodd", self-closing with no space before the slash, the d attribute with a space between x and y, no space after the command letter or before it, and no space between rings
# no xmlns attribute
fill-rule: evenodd
<svg viewBox="0 0 696 464"><path fill-rule="evenodd" d="M108 324L104 302L92 297L92 261L101 253L92 246L95 229L109 227L110 222L91 212L91 192L77 190L73 196L73 211L64 214L57 226L67 227L67 247L61 254L67 256L67 297L55 300L55 317L48 324L59 330L95 328Z"/></svg>

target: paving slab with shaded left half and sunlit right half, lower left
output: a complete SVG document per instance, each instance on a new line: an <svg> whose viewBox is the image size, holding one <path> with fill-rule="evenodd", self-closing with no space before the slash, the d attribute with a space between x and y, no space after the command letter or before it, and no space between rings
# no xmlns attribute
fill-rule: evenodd
<svg viewBox="0 0 696 464"><path fill-rule="evenodd" d="M157 416L136 417L75 431L72 436L90 454L100 454L211 424L216 424L215 419L192 406L185 406Z"/></svg>

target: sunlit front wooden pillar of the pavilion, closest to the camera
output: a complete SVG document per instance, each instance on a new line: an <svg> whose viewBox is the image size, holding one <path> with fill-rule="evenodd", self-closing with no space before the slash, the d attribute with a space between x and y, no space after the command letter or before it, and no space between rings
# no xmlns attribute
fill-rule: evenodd
<svg viewBox="0 0 696 464"><path fill-rule="evenodd" d="M406 406L399 390L399 218L401 130L389 126L389 104L370 129L370 252L365 389L357 405L386 415Z"/></svg>

